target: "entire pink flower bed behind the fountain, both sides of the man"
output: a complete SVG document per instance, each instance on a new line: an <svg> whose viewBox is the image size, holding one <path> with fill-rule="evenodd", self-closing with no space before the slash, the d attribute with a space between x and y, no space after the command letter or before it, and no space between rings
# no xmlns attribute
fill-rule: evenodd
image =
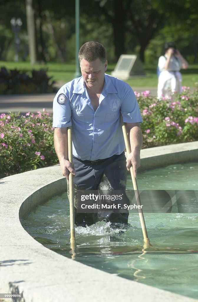
<svg viewBox="0 0 198 302"><path fill-rule="evenodd" d="M198 91L183 87L181 94L159 101L149 91L137 93L142 113L143 148L198 140ZM0 176L57 163L52 115L0 115Z"/></svg>

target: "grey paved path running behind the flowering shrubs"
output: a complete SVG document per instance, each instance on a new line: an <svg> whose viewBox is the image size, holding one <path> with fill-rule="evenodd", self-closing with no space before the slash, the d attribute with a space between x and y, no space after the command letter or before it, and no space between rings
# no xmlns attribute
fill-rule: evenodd
<svg viewBox="0 0 198 302"><path fill-rule="evenodd" d="M157 88L133 88L136 92L150 90L152 95L156 95ZM0 95L0 114L20 111L22 114L27 112L36 113L43 111L52 113L52 104L55 93L53 94L40 94L40 95Z"/></svg>

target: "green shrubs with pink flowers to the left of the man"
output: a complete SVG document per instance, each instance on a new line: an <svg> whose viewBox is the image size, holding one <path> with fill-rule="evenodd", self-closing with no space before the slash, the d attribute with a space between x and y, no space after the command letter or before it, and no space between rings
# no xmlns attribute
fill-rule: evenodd
<svg viewBox="0 0 198 302"><path fill-rule="evenodd" d="M45 110L25 116L0 115L1 175L53 165L57 156L53 146L52 116Z"/></svg>

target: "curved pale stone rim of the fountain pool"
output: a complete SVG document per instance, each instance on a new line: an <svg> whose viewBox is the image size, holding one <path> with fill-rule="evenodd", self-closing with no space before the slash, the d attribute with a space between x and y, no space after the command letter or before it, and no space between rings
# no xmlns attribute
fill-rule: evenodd
<svg viewBox="0 0 198 302"><path fill-rule="evenodd" d="M175 146L171 148L175 150ZM194 144L190 146L195 150ZM154 162L164 152L164 147L157 148ZM189 153L189 148L184 154ZM165 149L171 154L168 146ZM155 150L142 150L141 157L150 162ZM150 154L150 158L144 157L144 153ZM19 215L25 217L38 204L66 191L66 180L61 176L59 165L8 176L0 179L0 184L1 293L23 293L22 302L197 301L97 270L34 240L22 227Z"/></svg>

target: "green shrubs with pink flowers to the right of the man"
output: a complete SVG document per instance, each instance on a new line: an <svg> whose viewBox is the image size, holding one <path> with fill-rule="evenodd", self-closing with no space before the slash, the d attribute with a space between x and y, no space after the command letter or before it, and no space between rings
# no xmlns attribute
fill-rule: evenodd
<svg viewBox="0 0 198 302"><path fill-rule="evenodd" d="M183 87L182 93L161 101L149 91L135 94L143 118L143 148L198 140L197 90Z"/></svg>

